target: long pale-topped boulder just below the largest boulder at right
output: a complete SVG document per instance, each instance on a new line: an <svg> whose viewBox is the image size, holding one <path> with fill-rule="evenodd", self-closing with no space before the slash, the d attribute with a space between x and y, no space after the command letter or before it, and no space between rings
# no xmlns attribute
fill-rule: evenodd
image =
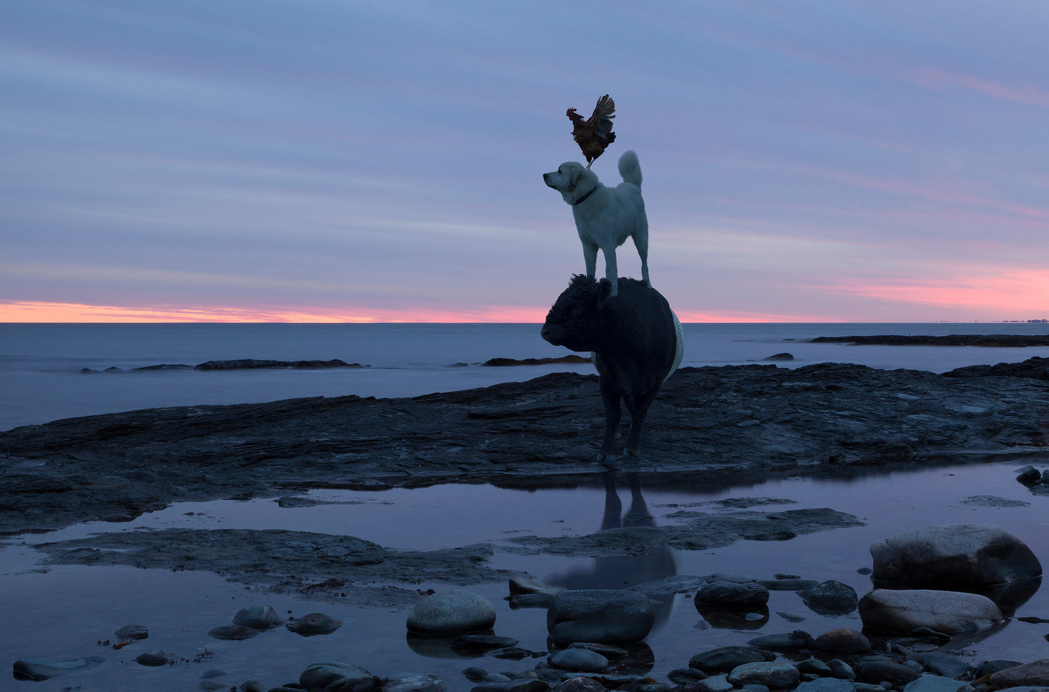
<svg viewBox="0 0 1049 692"><path fill-rule="evenodd" d="M859 601L864 627L907 633L919 627L957 634L990 627L1002 611L985 596L933 589L874 589Z"/></svg>

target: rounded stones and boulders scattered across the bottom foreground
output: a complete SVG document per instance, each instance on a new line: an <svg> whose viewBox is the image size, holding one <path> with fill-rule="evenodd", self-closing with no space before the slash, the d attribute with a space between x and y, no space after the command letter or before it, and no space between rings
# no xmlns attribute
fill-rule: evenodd
<svg viewBox="0 0 1049 692"><path fill-rule="evenodd" d="M872 580L876 588L857 598L855 590L836 581L802 583L778 576L773 588L799 590L810 607L822 612L851 612L858 608L863 632L837 628L813 636L804 630L765 634L745 644L725 646L693 655L687 667L672 670L668 682L647 677L651 651L643 643L655 622L648 598L631 589L565 590L533 580L515 578L514 602L547 608L551 649L532 652L517 642L494 634L496 612L476 593L450 589L420 599L407 619L408 644L426 655L445 650L477 656L498 652L502 659L545 656L530 670L490 672L467 668L471 692L1049 692L1049 658L1034 662L987 661L977 667L945 652L918 651L907 645L948 644L960 633L975 632L1011 617L1042 567L1030 549L1001 528L983 524L932 526L898 534L871 546ZM758 613L766 609L769 586L731 576L703 581L693 602L704 618L713 613ZM1026 584L1026 586L1025 586ZM949 586L950 589L944 588ZM983 589L994 599L962 590ZM240 610L233 624L209 632L220 639L243 639L284 624L269 606ZM341 623L311 613L286 627L300 634L335 631ZM144 639L145 628L117 631L125 641ZM877 645L877 646L876 646ZM886 646L887 645L887 646ZM879 652L881 651L881 652ZM87 670L105 659L15 664L16 677L46 679ZM163 651L140 654L141 665L169 665L175 658ZM638 671L641 671L640 673ZM211 677L209 677L209 675ZM229 689L206 673L200 689ZM381 678L367 669L340 662L308 666L299 680L266 688L248 680L242 692L445 692L447 685L432 674Z"/></svg>

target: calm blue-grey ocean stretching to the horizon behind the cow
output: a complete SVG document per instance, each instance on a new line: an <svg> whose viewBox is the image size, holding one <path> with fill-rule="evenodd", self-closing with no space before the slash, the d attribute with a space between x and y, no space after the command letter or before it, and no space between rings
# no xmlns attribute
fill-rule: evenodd
<svg viewBox="0 0 1049 692"><path fill-rule="evenodd" d="M798 367L860 363L942 372L1049 355L1047 348L845 346L821 336L1045 333L1045 324L685 324L682 366L759 362L790 352ZM480 367L491 358L569 353L536 324L0 324L0 430L81 415L164 406L241 404L295 396L415 396L524 381L582 366ZM341 359L341 370L192 370L81 374L205 361Z"/></svg>

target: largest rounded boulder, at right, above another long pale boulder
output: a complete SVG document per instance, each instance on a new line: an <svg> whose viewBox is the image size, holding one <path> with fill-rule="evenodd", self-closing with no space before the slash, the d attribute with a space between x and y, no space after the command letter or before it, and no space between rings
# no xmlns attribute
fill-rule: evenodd
<svg viewBox="0 0 1049 692"><path fill-rule="evenodd" d="M992 586L1042 574L1023 541L989 524L943 524L871 544L875 581Z"/></svg>

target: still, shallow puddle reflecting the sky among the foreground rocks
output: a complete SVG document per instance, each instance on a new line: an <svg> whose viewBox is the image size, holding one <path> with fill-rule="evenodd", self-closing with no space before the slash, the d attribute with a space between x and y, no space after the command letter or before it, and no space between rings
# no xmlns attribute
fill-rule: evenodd
<svg viewBox="0 0 1049 692"><path fill-rule="evenodd" d="M1046 459L1023 463L1044 467ZM317 661L343 661L380 676L432 672L451 690L471 687L459 671L479 666L491 671L532 668L536 661L462 658L441 647L424 649L406 641L407 611L386 607L360 608L312 602L287 593L248 591L222 577L200 571L131 567L41 565L31 547L45 541L81 538L101 532L145 528L283 528L350 535L388 548L431 550L489 543L495 548L494 568L529 572L540 582L575 588L619 588L672 575L740 575L772 579L777 572L805 579L835 579L859 594L871 588L857 570L871 566L868 550L875 540L940 523L989 523L1002 526L1049 564L1049 496L1032 495L1014 480L1016 461L944 466L908 470L864 471L850 477L786 476L750 483L688 482L645 474L597 475L590 484L543 490L508 490L492 485L446 484L383 492L313 491L298 500L278 502L222 500L180 502L144 515L129 524L93 522L46 535L7 540L0 552L0 608L5 627L0 651L7 664L17 658L68 659L102 655L101 668L43 683L18 683L35 690L194 689L208 670L224 687L250 678L267 687L295 682ZM705 550L656 549L644 556L580 558L528 555L515 537L582 536L630 524L678 523L676 513L718 512L719 500L770 498L753 509L783 511L831 507L855 515L863 525L798 536L789 541L740 541ZM996 498L996 499L987 499ZM304 499L304 501L303 501ZM284 506L282 506L282 504ZM425 575L405 576L419 588L443 588ZM521 648L545 651L545 611L511 608L507 584L468 587L496 607L495 633L519 641ZM801 628L818 635L836 627L859 629L854 611L821 615L810 610L796 592L772 591L768 618L746 622L707 622L687 594L657 599L657 624L647 639L654 663L649 673L684 667L688 658L710 648L744 644L757 634ZM325 612L344 621L326 636L304 639L284 628L243 642L212 640L205 633L229 624L249 605L269 604L284 614ZM1049 619L1049 594L1035 592L1016 617ZM127 624L145 625L150 636L121 650L100 644ZM759 627L759 629L748 629ZM1049 625L1010 620L983 639L955 641L970 662L988 658L1033 661L1049 655ZM145 668L134 663L143 651L162 649L179 657L172 667ZM8 678L9 679L9 678ZM28 688L26 688L28 689Z"/></svg>

